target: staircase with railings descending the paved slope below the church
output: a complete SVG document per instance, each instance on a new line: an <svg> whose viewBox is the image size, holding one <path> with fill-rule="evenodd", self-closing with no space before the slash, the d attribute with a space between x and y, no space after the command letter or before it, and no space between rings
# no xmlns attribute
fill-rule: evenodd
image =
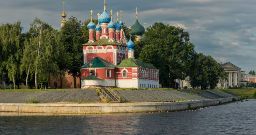
<svg viewBox="0 0 256 135"><path fill-rule="evenodd" d="M120 97L114 91L112 92L112 89L109 89L111 88L99 88L102 96L105 99L109 99L110 103L120 103Z"/></svg>

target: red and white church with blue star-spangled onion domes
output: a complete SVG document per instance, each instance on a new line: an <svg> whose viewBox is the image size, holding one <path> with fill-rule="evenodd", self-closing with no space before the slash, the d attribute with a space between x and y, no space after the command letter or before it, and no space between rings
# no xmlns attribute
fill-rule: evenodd
<svg viewBox="0 0 256 135"><path fill-rule="evenodd" d="M105 3L98 22L96 25L91 20L88 24L90 39L82 44L81 87L159 88L159 69L134 59L134 43L131 39L127 42L122 15L120 22L117 16L114 23Z"/></svg>

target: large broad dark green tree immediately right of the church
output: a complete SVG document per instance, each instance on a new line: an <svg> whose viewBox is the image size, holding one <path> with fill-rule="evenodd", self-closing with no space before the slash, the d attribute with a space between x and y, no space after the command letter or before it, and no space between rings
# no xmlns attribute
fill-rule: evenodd
<svg viewBox="0 0 256 135"><path fill-rule="evenodd" d="M160 82L172 83L174 79L185 79L195 55L188 32L180 27L156 22L147 28L144 36L142 43L138 42L140 45L135 48L135 52L140 52L139 60L160 69Z"/></svg>

